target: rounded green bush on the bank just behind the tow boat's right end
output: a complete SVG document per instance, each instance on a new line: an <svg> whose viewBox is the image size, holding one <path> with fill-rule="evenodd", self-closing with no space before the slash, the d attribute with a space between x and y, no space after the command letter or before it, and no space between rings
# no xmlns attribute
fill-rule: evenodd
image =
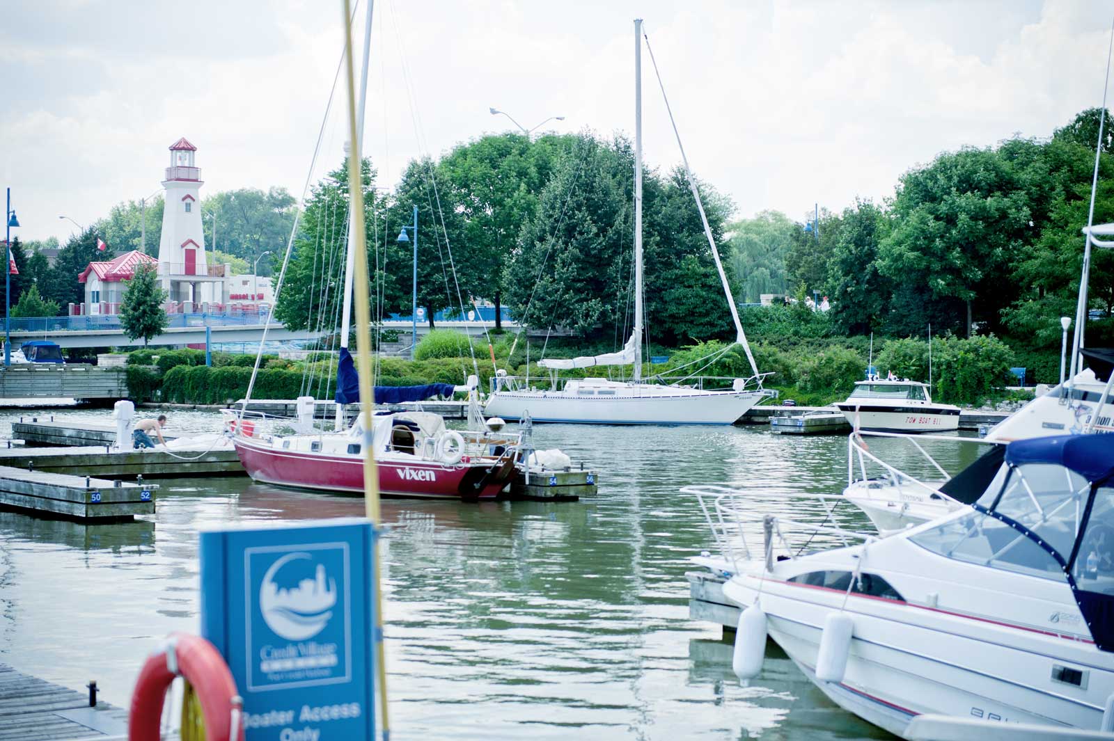
<svg viewBox="0 0 1114 741"><path fill-rule="evenodd" d="M978 404L1009 384L1013 352L994 335L932 340L932 376L939 401Z"/></svg>

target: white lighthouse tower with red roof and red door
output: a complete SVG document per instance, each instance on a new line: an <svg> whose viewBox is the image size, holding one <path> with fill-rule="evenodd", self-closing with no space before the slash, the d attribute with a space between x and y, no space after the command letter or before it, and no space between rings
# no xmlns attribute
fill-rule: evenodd
<svg viewBox="0 0 1114 741"><path fill-rule="evenodd" d="M194 162L197 147L185 137L170 145L170 166L166 168L166 204L163 209L163 235L158 243L158 277L178 310L198 312L213 300L214 284L205 259L205 231L202 228L202 171ZM219 292L219 286L216 286Z"/></svg>

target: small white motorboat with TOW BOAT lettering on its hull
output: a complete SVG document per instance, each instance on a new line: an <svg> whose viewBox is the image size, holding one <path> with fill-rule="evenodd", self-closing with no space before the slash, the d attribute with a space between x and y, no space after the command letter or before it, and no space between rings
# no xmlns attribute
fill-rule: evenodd
<svg viewBox="0 0 1114 741"><path fill-rule="evenodd" d="M851 426L877 432L949 432L959 428L959 407L932 401L917 381L858 381L846 402L836 404Z"/></svg>

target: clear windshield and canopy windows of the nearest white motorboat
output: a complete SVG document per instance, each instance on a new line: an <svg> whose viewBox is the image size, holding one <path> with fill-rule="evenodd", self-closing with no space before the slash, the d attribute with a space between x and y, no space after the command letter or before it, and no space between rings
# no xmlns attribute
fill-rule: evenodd
<svg viewBox="0 0 1114 741"><path fill-rule="evenodd" d="M978 502L1008 522L975 511L910 540L949 559L1066 581L1059 561L1037 541L1066 563L1089 492L1091 485L1082 476L1063 466L1017 466L1009 470L998 492L988 492Z"/></svg>

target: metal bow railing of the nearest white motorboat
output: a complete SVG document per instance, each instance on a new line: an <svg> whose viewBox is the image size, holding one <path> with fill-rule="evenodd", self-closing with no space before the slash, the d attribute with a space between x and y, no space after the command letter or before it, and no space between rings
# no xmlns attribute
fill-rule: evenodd
<svg viewBox="0 0 1114 741"><path fill-rule="evenodd" d="M853 530L861 512L839 494L755 492L722 485L685 486L712 530L715 547L737 572L756 559L797 559L808 551L877 540ZM819 502L820 507L812 503ZM794 515L785 515L785 510Z"/></svg>

